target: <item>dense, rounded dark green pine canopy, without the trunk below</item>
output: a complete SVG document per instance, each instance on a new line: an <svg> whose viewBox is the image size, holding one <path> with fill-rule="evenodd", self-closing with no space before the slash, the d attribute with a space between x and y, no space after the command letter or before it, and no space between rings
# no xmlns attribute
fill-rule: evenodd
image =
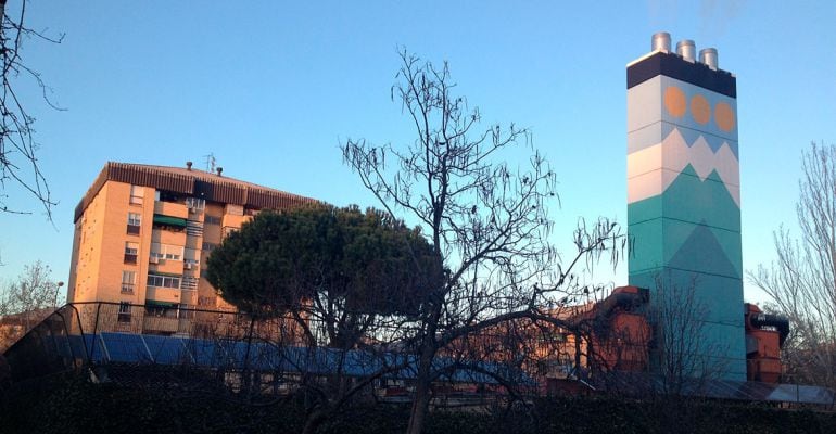
<svg viewBox="0 0 836 434"><path fill-rule="evenodd" d="M244 311L327 320L417 315L443 267L419 229L387 213L314 204L258 214L212 252L206 278Z"/></svg>

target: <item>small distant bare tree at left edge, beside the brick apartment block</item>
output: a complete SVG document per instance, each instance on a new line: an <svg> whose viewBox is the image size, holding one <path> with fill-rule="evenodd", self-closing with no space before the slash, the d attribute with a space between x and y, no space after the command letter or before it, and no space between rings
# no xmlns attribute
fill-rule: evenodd
<svg viewBox="0 0 836 434"><path fill-rule="evenodd" d="M17 280L0 292L0 349L43 320L55 307L59 286L41 261L24 267Z"/></svg>

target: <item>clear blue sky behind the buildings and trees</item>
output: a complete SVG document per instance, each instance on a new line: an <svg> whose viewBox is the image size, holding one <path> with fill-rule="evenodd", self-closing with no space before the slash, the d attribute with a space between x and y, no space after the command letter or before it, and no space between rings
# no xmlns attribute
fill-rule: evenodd
<svg viewBox="0 0 836 434"><path fill-rule="evenodd" d="M10 3L14 3L10 1ZM14 5L8 7L10 10ZM626 224L625 65L650 36L715 47L737 76L744 267L772 259L772 231L795 228L800 150L836 143L836 2L825 1L46 1L28 25L49 108L37 117L54 221L15 189L0 214L0 282L43 260L66 281L73 210L107 161L205 166L325 200L375 205L339 143L407 143L390 99L397 47L451 64L485 122L531 127L560 181L556 240L579 217ZM595 280L626 283L626 267ZM763 294L746 285L746 298Z"/></svg>

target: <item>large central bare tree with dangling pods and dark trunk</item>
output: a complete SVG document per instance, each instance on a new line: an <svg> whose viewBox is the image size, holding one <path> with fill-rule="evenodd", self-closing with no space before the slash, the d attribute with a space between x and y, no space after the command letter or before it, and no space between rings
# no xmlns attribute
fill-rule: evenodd
<svg viewBox="0 0 836 434"><path fill-rule="evenodd" d="M446 63L436 67L406 51L401 60L392 99L415 127L415 141L396 149L349 139L342 151L390 214L423 227L448 270L414 318L417 380L407 432L417 434L430 385L444 374L433 365L442 348L510 320L558 322L547 307L580 291L573 267L587 254L616 252L623 240L615 224L599 220L575 232L578 255L561 264L548 242L555 173L531 146L530 131L482 127L479 110L453 94ZM524 168L507 163L525 153Z"/></svg>

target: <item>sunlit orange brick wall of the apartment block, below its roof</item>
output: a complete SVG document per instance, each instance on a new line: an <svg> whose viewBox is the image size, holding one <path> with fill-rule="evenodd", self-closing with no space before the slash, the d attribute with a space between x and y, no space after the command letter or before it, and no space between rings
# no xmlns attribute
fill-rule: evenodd
<svg viewBox="0 0 836 434"><path fill-rule="evenodd" d="M141 196L137 196L137 192ZM252 216L244 215L243 206L221 203L207 203L204 209L190 210L186 204L189 195L179 195L176 202L168 202L155 201L156 193L151 187L112 180L104 182L75 225L67 302L139 305L161 302L189 308L232 309L217 296L215 289L201 276L201 270L205 269L212 248ZM138 233L128 231L130 213L140 217ZM188 228L172 230L172 227L155 225L155 215L186 219ZM205 216L210 216L211 222L206 222ZM136 244L135 263L126 258L126 243ZM161 255L174 252L176 256L152 258L152 252ZM187 256L194 259L189 265ZM128 282L123 282L124 271L135 273L132 290L131 285L124 284ZM149 275L176 277L180 285L149 285ZM193 289L186 289L183 282L188 278L197 281ZM131 314L141 316L136 308Z"/></svg>

